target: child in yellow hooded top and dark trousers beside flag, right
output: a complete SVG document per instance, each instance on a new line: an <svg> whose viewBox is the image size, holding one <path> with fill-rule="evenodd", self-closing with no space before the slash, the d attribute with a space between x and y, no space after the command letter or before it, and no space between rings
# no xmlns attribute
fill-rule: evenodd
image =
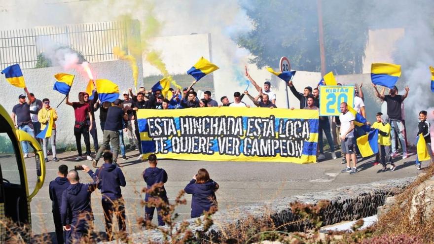
<svg viewBox="0 0 434 244"><path fill-rule="evenodd" d="M392 166L390 171L395 171L396 166L392 160L391 154L391 140L390 140L390 130L391 126L389 124L389 116L387 114L383 114L381 112L377 113L376 116L377 121L372 125L372 128L378 129L378 153L375 156L374 165L378 164L381 158L381 165L383 165L382 171L387 171L386 167L386 159Z"/></svg>

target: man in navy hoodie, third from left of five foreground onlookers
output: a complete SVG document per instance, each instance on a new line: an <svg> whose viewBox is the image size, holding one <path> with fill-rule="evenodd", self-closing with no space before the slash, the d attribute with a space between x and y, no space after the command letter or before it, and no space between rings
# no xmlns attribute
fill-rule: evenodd
<svg viewBox="0 0 434 244"><path fill-rule="evenodd" d="M100 182L98 189L101 190L103 198L101 203L104 209L104 216L106 219L106 233L109 241L112 240L112 218L113 213L117 217L117 224L119 232L125 234L125 201L122 198L121 186L125 186L124 174L121 169L113 164L113 154L105 152L103 154L104 164L101 168L97 169L95 174L98 175Z"/></svg>

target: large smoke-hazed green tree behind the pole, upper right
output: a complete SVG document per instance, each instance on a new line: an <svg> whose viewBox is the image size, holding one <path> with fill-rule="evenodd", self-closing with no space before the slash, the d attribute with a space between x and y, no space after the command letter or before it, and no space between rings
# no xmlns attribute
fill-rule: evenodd
<svg viewBox="0 0 434 244"><path fill-rule="evenodd" d="M362 71L368 4L367 0L323 1L327 71ZM287 56L293 70L321 70L317 0L252 0L241 6L253 30L236 41L255 56L251 63L259 68L276 66L280 57Z"/></svg>

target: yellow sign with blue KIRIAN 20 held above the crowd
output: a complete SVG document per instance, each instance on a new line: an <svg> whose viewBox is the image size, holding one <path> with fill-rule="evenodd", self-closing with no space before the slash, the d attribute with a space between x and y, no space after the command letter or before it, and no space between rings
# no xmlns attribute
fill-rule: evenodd
<svg viewBox="0 0 434 244"><path fill-rule="evenodd" d="M337 116L340 105L353 106L354 86L320 86L320 116Z"/></svg>

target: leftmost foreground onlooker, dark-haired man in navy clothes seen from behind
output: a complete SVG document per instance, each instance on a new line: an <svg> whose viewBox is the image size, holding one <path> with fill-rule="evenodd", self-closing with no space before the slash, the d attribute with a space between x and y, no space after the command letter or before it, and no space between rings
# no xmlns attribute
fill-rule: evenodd
<svg viewBox="0 0 434 244"><path fill-rule="evenodd" d="M68 181L68 166L59 166L57 177L50 182L48 192L50 193L50 200L53 202L52 212L54 220L54 228L56 229L56 239L58 244L63 244L65 240L65 234L63 232L62 220L60 219L60 206L62 205L62 194L70 186ZM67 234L68 235L68 234Z"/></svg>

